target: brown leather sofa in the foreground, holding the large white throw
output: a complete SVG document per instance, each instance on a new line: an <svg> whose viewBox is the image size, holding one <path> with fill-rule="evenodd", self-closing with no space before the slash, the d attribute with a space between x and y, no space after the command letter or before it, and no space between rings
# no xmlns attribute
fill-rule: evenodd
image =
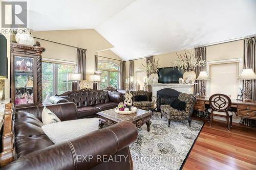
<svg viewBox="0 0 256 170"><path fill-rule="evenodd" d="M77 119L74 103L47 106L61 121ZM137 128L121 122L67 142L54 144L42 131L43 106L17 109L14 120L16 160L3 169L133 169L129 145L137 139ZM92 156L85 161L84 157ZM97 159L100 157L101 159ZM123 155L120 162L106 161ZM118 158L118 157L117 157Z"/></svg>

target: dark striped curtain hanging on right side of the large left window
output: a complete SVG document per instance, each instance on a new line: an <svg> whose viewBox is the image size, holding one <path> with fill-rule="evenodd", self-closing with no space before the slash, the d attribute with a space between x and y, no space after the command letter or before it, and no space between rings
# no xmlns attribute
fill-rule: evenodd
<svg viewBox="0 0 256 170"><path fill-rule="evenodd" d="M76 63L77 71L82 75L82 80L86 80L86 50L77 48Z"/></svg>

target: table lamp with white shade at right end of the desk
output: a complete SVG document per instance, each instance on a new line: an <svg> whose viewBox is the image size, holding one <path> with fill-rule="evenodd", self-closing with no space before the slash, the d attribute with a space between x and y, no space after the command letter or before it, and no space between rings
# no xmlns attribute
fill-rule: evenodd
<svg viewBox="0 0 256 170"><path fill-rule="evenodd" d="M256 80L256 75L252 68L243 69L241 75L238 77L238 80L245 80L245 90L243 91L245 95L244 101L253 102L251 99L252 91L250 90L250 84L251 80Z"/></svg>

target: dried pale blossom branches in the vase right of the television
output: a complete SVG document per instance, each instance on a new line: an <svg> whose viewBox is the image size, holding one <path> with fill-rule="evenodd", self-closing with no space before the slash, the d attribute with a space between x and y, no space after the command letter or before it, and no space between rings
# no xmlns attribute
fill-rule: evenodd
<svg viewBox="0 0 256 170"><path fill-rule="evenodd" d="M177 54L177 53L176 53ZM201 67L206 65L206 61L200 56L199 58L196 57L195 53L190 53L189 51L185 50L185 54L178 55L178 58L172 64L175 67L178 67L178 70L184 71L195 71L196 67Z"/></svg>

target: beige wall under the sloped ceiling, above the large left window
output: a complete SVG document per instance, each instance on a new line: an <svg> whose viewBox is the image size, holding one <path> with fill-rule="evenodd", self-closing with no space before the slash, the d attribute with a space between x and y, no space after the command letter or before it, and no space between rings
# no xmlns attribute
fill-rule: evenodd
<svg viewBox="0 0 256 170"><path fill-rule="evenodd" d="M87 75L94 74L94 53L112 48L113 45L106 41L95 30L66 30L33 32L34 37L47 39L63 44L87 49ZM68 47L44 40L38 40L46 52L43 58L66 60L76 62L76 48ZM89 76L87 76L89 78Z"/></svg>

